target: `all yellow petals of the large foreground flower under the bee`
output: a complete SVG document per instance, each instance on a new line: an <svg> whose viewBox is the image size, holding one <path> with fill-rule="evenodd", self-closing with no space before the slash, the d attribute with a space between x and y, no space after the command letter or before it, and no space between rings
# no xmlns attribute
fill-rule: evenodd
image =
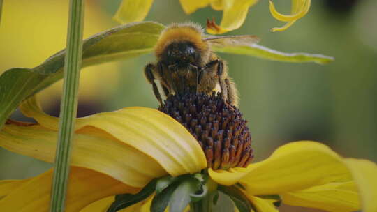
<svg viewBox="0 0 377 212"><path fill-rule="evenodd" d="M21 106L38 123L10 121L0 146L53 162L58 119L43 113L35 98ZM377 211L377 165L342 158L317 142L292 142L246 168L207 168L205 153L184 126L156 109L128 107L77 119L66 211L104 211L114 195L135 193L161 176L207 169L219 187L237 188L257 211L284 204L325 211ZM52 171L32 179L0 181L0 208L48 211ZM149 211L151 197L123 211Z"/></svg>

